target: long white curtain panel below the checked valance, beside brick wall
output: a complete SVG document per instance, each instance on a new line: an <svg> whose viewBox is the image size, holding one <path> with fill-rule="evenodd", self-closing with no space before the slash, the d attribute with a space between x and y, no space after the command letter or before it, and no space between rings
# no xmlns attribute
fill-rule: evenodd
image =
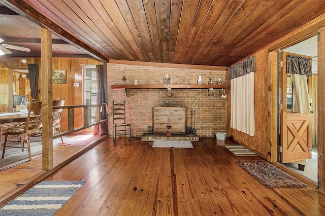
<svg viewBox="0 0 325 216"><path fill-rule="evenodd" d="M255 136L254 75L249 73L230 81L230 127L250 136Z"/></svg>

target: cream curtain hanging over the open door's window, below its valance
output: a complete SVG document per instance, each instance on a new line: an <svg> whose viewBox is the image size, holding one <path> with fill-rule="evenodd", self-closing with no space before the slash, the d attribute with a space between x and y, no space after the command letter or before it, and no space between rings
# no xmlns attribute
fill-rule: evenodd
<svg viewBox="0 0 325 216"><path fill-rule="evenodd" d="M299 74L291 74L294 86L293 94L293 113L309 113L309 94L307 76Z"/></svg>

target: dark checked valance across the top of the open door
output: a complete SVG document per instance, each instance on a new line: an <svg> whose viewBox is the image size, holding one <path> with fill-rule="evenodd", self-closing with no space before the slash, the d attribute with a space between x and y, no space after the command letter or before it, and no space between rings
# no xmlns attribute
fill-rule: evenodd
<svg viewBox="0 0 325 216"><path fill-rule="evenodd" d="M299 74L311 77L310 58L301 56L287 55L286 56L286 73Z"/></svg>

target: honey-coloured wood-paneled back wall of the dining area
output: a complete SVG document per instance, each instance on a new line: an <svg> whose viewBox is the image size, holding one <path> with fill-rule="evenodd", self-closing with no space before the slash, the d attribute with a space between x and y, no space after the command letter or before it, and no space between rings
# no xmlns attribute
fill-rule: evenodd
<svg viewBox="0 0 325 216"><path fill-rule="evenodd" d="M10 69L28 69L28 64L39 64L39 73L41 73L40 58L25 58L27 63L21 63L22 58L2 57L0 58L0 102L3 111L8 111L9 107L9 70ZM67 83L52 85L53 99L66 97L65 105L83 104L83 76L82 65L96 65L103 62L91 58L52 58L53 69L67 70ZM75 87L78 83L79 87ZM42 90L39 97L42 97ZM5 107L5 108L4 108ZM75 127L83 124L82 108L75 109ZM61 130L68 129L68 111L64 110L61 119Z"/></svg>

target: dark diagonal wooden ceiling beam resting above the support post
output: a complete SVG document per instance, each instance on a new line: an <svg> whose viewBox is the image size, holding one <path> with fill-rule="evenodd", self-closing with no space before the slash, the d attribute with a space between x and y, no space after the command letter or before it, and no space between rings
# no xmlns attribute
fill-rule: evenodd
<svg viewBox="0 0 325 216"><path fill-rule="evenodd" d="M92 47L88 46L84 42L77 39L69 31L63 29L61 26L52 22L52 20L48 19L43 14L39 13L32 6L30 6L26 1L0 0L0 3L5 5L9 9L13 10L14 12L24 16L25 18L35 23L38 23L42 27L48 28L54 34L63 37L63 39L67 39L67 42L69 44L73 44L77 47L80 47L81 49L83 49L84 52L88 53L89 55L94 56L95 58L101 61L109 62L110 59L107 56L103 55L102 53L96 51Z"/></svg>

